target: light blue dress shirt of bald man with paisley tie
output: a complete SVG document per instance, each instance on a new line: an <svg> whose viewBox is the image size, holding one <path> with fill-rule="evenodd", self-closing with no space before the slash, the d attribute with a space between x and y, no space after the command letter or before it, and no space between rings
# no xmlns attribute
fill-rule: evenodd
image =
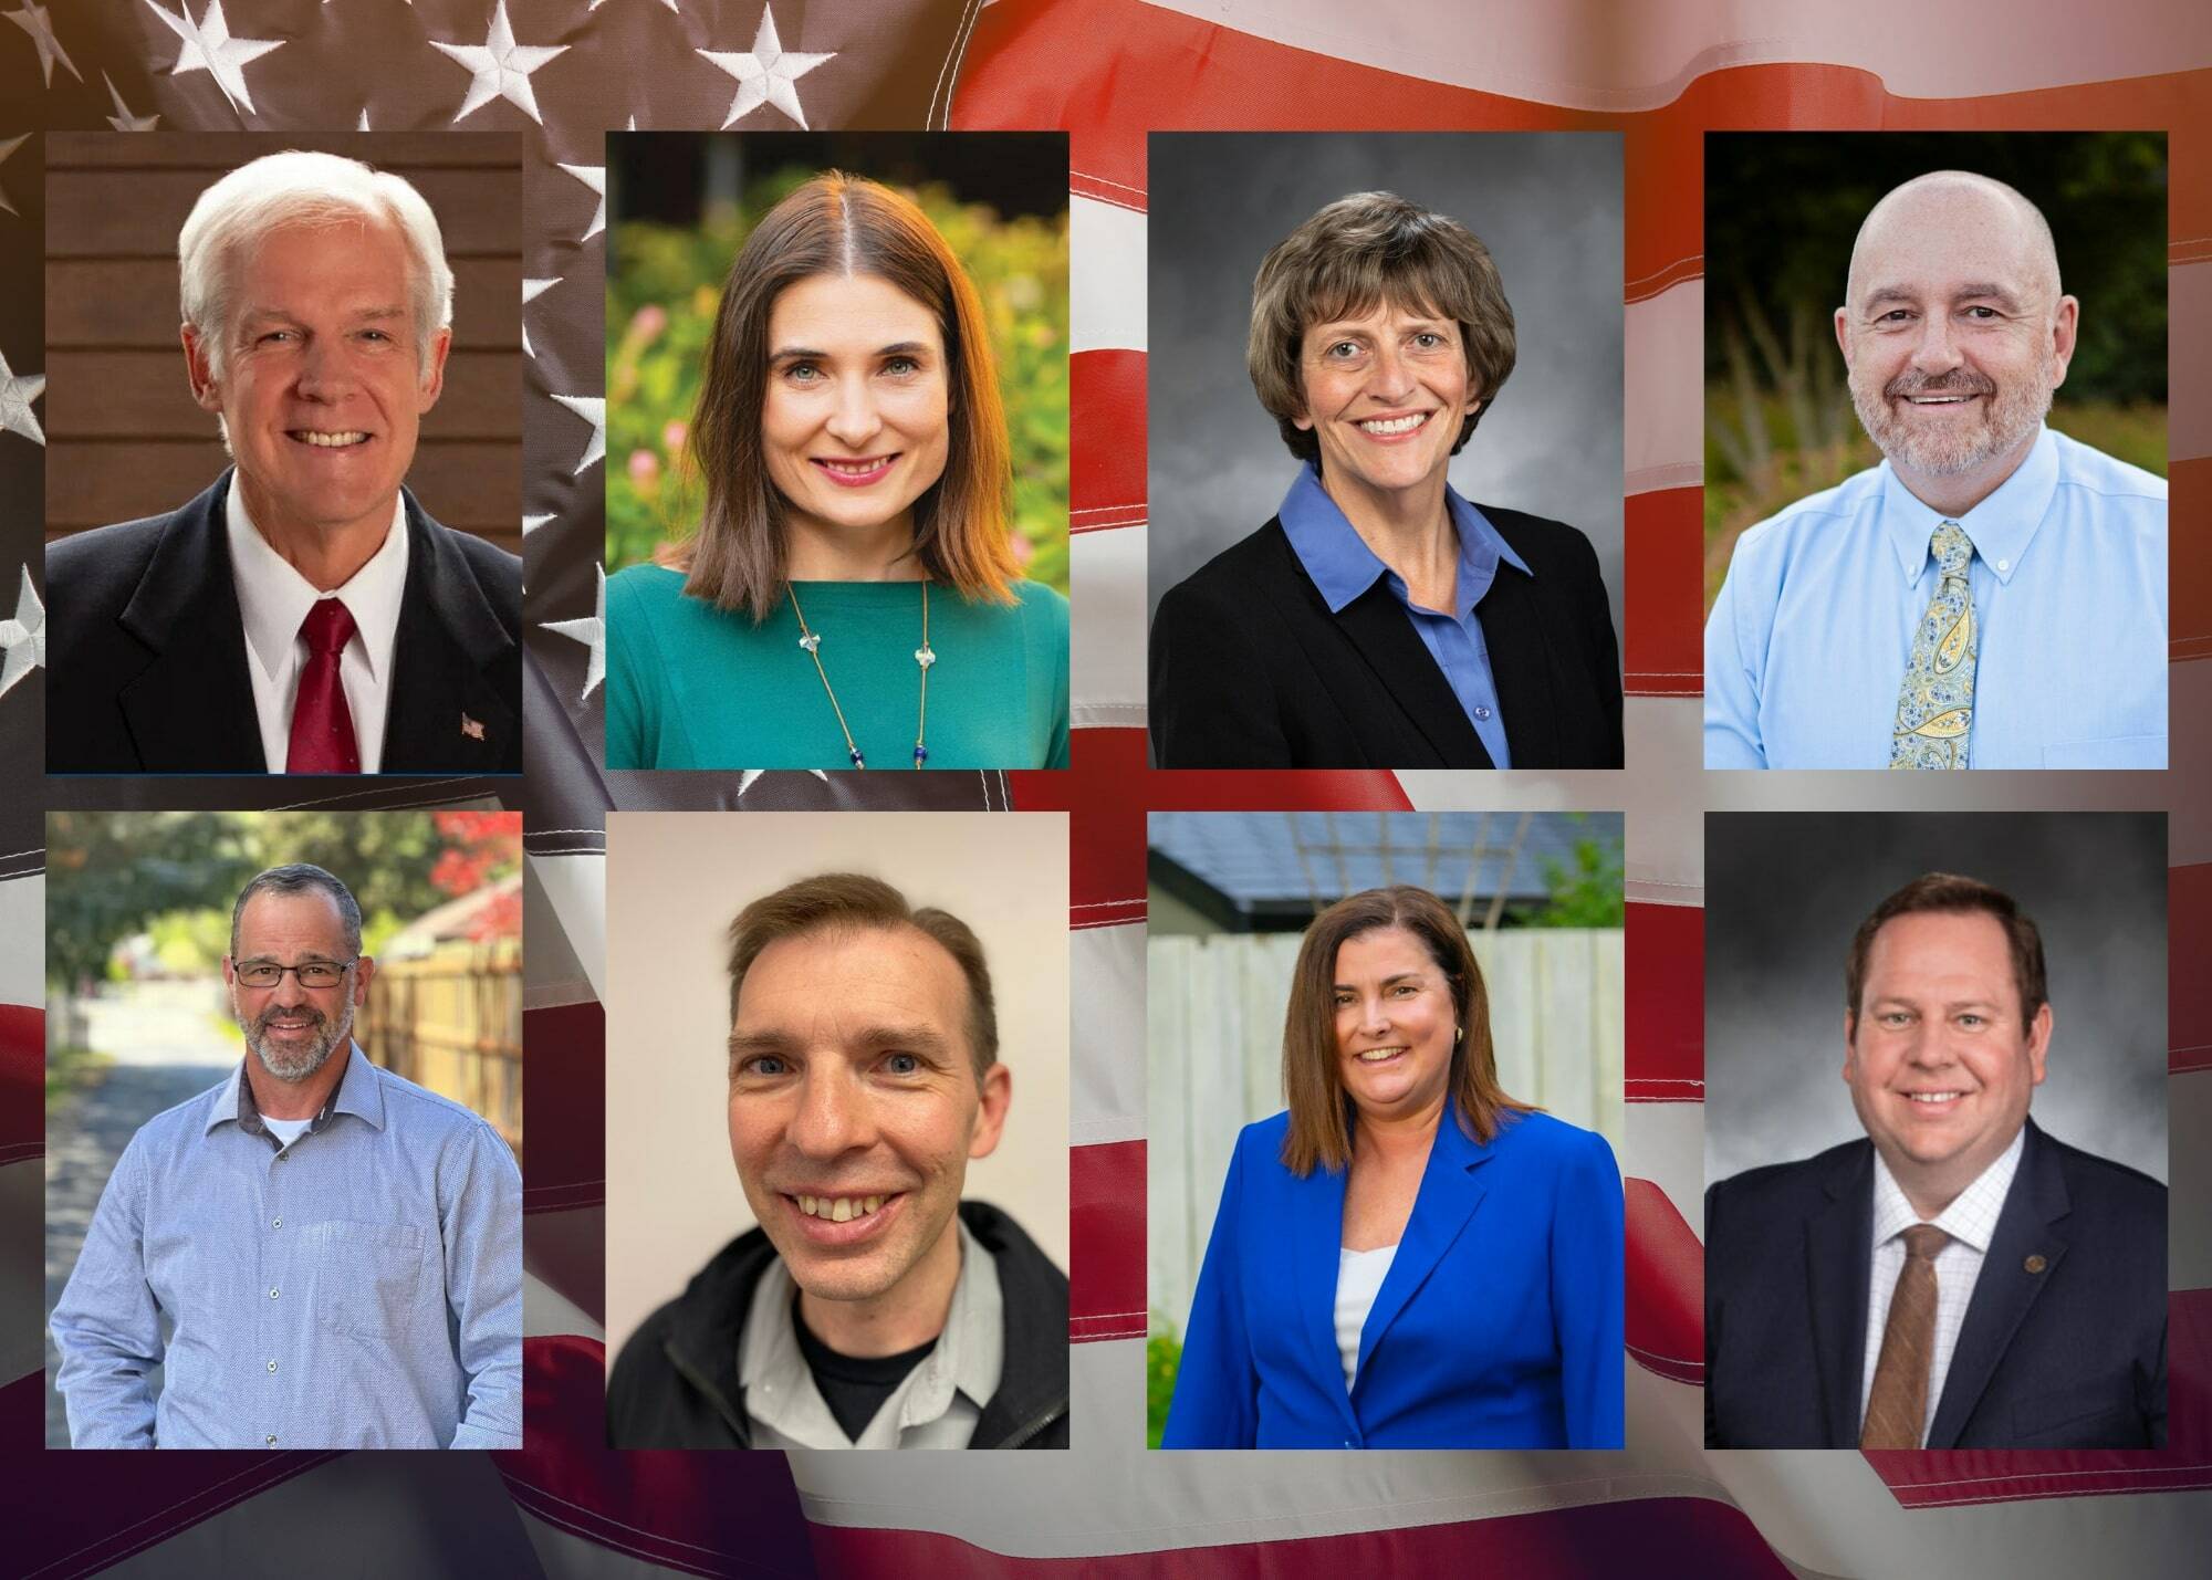
<svg viewBox="0 0 2212 1580"><path fill-rule="evenodd" d="M1736 540L1705 768L1887 768L1947 520L1885 460ZM2166 480L2044 429L1973 540L1975 768L2166 768Z"/></svg>

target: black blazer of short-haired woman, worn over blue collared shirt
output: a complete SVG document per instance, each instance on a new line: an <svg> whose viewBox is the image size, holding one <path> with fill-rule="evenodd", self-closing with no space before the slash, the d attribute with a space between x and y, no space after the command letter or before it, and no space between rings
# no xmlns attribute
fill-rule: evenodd
<svg viewBox="0 0 2212 1580"><path fill-rule="evenodd" d="M1515 768L1621 766L1621 655L1590 540L1480 505L1500 562L1478 604ZM1491 768L1383 578L1329 613L1281 520L1221 551L1152 617L1161 768Z"/></svg>

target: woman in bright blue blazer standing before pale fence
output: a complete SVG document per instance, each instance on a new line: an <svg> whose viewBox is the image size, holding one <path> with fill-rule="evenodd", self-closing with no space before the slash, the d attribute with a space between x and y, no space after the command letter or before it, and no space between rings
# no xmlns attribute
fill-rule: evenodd
<svg viewBox="0 0 2212 1580"><path fill-rule="evenodd" d="M1283 1087L1237 1140L1161 1447L1621 1447L1621 1175L1498 1089L1442 901L1314 921Z"/></svg>

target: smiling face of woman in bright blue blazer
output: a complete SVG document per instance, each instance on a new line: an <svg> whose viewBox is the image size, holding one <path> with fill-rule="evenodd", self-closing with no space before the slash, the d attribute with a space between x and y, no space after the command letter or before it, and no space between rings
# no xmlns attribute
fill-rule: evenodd
<svg viewBox="0 0 2212 1580"><path fill-rule="evenodd" d="M1451 1084L1451 980L1405 927L1336 947L1336 1078L1363 1118L1411 1118Z"/></svg>

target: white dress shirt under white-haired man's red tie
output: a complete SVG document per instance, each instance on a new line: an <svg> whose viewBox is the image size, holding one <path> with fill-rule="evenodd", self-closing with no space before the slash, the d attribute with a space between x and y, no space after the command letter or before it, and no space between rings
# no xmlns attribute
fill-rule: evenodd
<svg viewBox="0 0 2212 1580"><path fill-rule="evenodd" d="M307 666L307 644L299 628L325 593L292 569L290 560L270 549L246 513L246 491L237 474L226 500L230 536L230 580L239 591L239 615L246 622L246 673L254 684L254 717L261 721L261 755L272 775L281 775L292 757L292 704L299 677ZM345 686L345 708L354 715L354 741L361 748L361 772L374 775L385 755L385 713L392 706L392 648L400 633L400 595L407 591L407 507L392 498L392 531L354 578L327 593L354 617L354 635L338 655L338 684Z"/></svg>

